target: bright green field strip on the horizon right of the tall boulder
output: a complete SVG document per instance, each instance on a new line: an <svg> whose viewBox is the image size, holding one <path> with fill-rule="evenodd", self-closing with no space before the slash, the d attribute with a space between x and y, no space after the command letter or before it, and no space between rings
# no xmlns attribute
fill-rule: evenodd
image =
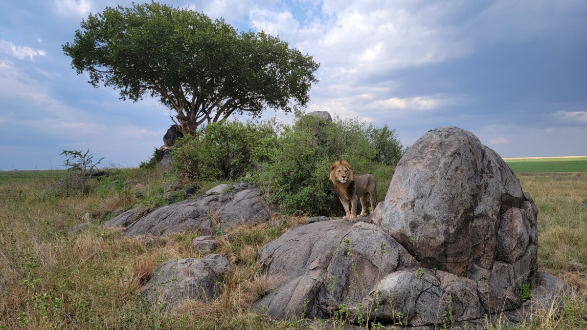
<svg viewBox="0 0 587 330"><path fill-rule="evenodd" d="M504 159L515 173L587 172L587 157Z"/></svg>

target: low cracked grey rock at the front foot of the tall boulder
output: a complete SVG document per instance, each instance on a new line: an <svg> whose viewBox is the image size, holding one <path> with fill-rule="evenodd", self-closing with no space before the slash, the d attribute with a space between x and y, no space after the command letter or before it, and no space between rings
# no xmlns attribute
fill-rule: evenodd
<svg viewBox="0 0 587 330"><path fill-rule="evenodd" d="M453 322L462 322L519 304L517 296L483 281L412 267L383 277L363 301L363 314L368 315L373 306L379 320L426 326L443 324L443 314L449 308ZM402 313L402 319L397 319L397 312Z"/></svg>

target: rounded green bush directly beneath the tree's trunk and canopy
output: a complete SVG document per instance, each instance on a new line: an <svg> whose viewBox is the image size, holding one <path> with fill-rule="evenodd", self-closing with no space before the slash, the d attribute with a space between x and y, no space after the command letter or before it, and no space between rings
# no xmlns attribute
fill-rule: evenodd
<svg viewBox="0 0 587 330"><path fill-rule="evenodd" d="M190 180L225 180L244 175L251 166L268 159L275 148L274 122L211 124L195 135L176 141L171 168Z"/></svg>

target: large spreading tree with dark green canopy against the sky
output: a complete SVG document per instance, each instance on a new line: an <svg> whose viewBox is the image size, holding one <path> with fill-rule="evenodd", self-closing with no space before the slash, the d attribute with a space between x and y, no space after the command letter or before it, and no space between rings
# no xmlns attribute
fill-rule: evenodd
<svg viewBox="0 0 587 330"><path fill-rule="evenodd" d="M90 13L81 28L63 45L77 74L87 72L94 87L120 90L123 100L158 98L176 111L184 133L235 112L290 112L308 103L318 82L312 56L189 9L157 2L106 7Z"/></svg>

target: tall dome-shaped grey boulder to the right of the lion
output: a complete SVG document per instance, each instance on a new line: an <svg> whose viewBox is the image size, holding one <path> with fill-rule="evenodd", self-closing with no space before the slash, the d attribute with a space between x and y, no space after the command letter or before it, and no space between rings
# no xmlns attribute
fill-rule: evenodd
<svg viewBox="0 0 587 330"><path fill-rule="evenodd" d="M537 269L537 208L471 132L436 128L397 164L379 223L417 259L516 290ZM495 265L497 264L497 265Z"/></svg>

